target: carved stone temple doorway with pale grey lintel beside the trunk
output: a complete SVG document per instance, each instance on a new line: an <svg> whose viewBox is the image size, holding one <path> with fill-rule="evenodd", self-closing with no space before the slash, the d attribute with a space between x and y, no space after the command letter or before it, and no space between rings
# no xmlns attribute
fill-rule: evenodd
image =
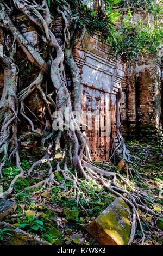
<svg viewBox="0 0 163 256"><path fill-rule="evenodd" d="M92 127L86 131L91 155L104 157L110 148L111 138L116 135L116 97L125 74L121 58L114 60L110 48L99 41L99 36L85 36L82 44L74 48L74 59L80 69L82 84L83 121L92 117ZM94 114L94 115L93 115ZM105 129L95 127L104 118ZM99 128L99 129L98 129Z"/></svg>

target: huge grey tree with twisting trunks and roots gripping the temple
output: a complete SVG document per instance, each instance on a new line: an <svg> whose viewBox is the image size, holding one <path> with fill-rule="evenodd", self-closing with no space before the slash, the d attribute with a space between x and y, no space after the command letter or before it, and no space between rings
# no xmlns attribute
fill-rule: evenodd
<svg viewBox="0 0 163 256"><path fill-rule="evenodd" d="M36 90L37 93L42 97L46 108L45 116L48 115L48 119L51 121L51 126L53 123L54 109L57 110L61 116L64 116L65 108L67 108L69 112L64 121L71 126L71 129L55 131L55 133L53 130L51 130L51 132L48 134L48 139L42 139L42 145L45 145L46 150L45 156L32 165L32 167L28 170L27 175L31 176L32 178L33 172L36 172L34 167L47 163L48 176L45 180L38 182L27 189L33 189L40 185L45 186L47 184L55 184L60 186L65 191L64 184L66 180L72 181L73 185L70 190L66 191L66 194L71 197L73 192L73 197L76 197L78 204L87 212L81 203L83 200L87 203L86 193L83 192L81 179L85 178L86 181L93 180L97 186L103 186L116 196L122 197L130 206L133 212L133 225L129 244L134 239L133 237L135 235L136 220L139 222L142 230L143 237L141 243L143 243L144 233L137 209L141 209L147 211L149 214L156 215L155 212L145 205L145 198L147 194L131 186L129 180L124 178L122 175L106 170L105 164L97 166L96 163L91 161L89 153L85 155L85 152L88 151L87 140L82 131L80 131L80 120L77 120L72 112L72 99L65 79L65 64L71 72L72 86L74 91L74 110L81 112L82 103L79 100L81 94L80 75L72 56L72 49L79 41L83 39L85 27L82 28L82 31L78 31L78 36L75 36L74 20L72 17L71 8L67 2L63 0L62 5L58 5L56 9L56 13L62 16L64 25L64 45L61 46L55 38L55 34L52 32L51 13L47 6L47 1L14 0L13 2L15 7L21 13L26 15L28 20L35 25L36 29L39 29L39 33L42 33L43 43L48 48L48 58L47 56L46 58L43 57L43 54L35 51L34 47L29 44L28 38L25 38L12 22L6 5L1 3L0 27L4 29L5 33L8 32L12 35L13 45L15 45L15 42L17 42L17 45L22 48L28 60L38 69L39 75L37 75L35 80L28 84L26 88L20 92L17 92L18 70L14 58L8 57L14 56L16 53L14 52L14 48L10 47L8 50L8 55L4 53L3 57L1 57L1 63L4 69L4 88L0 101L2 127L0 134L0 151L3 153L3 158L0 162L0 175L2 175L2 168L5 165L6 157L11 160L14 156L16 157L16 165L18 169L20 169L20 174L18 174L11 181L8 190L0 194L0 198L4 198L8 194L12 193L14 183L18 178L20 178L20 176L24 175L19 157L20 145L17 139L19 117L23 117L27 123L30 124L31 130L41 138L43 138L46 130L45 127L43 127L42 130L35 129L32 118L30 118L26 113L25 100L34 92L34 90ZM7 26L7 23L9 26ZM73 33L69 32L70 29L73 30ZM48 87L48 93L45 92L45 88L43 87L43 81L45 80L47 74L49 75L52 83L52 86ZM55 100L53 97L54 94ZM120 92L117 96L116 107L117 136L114 138L114 143L112 144L110 159L112 159L115 153L119 153L124 160L130 161L131 156L126 148L126 145L124 144L120 130L121 95L122 90L120 88ZM34 113L33 116L38 120ZM45 119L47 120L46 117ZM54 159L54 151L60 143L61 136L65 140L65 156L64 159L58 163L56 172L62 173L64 181L58 182L54 179L55 177L51 162ZM10 144L11 153L8 155ZM68 165L74 167L73 173L70 171L70 169L68 169ZM87 188L85 188L85 190L86 189ZM128 192L128 190L130 192ZM126 197L124 197L124 193L126 194Z"/></svg>

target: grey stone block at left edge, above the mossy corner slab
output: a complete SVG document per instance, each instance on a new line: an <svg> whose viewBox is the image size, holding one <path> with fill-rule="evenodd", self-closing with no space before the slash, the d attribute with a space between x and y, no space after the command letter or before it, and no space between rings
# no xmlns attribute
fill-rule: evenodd
<svg viewBox="0 0 163 256"><path fill-rule="evenodd" d="M17 203L5 199L0 200L0 221L4 219L10 212L15 211Z"/></svg>

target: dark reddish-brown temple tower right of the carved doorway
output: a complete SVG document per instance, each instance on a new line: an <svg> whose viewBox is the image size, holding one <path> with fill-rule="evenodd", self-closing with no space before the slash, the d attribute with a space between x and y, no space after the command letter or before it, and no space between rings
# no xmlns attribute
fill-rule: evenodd
<svg viewBox="0 0 163 256"><path fill-rule="evenodd" d="M141 9L136 10L133 20L154 22L153 16ZM122 82L123 134L162 142L162 49L158 55L141 53L137 61L127 65Z"/></svg>

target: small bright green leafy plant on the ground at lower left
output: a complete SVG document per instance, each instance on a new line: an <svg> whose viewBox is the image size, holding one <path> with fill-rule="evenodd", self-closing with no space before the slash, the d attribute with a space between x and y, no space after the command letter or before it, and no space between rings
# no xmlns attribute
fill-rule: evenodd
<svg viewBox="0 0 163 256"><path fill-rule="evenodd" d="M40 220L36 220L37 216L34 217L27 217L27 220L23 220L22 223L19 225L20 228L28 228L32 230L42 230L43 229L43 222Z"/></svg>

